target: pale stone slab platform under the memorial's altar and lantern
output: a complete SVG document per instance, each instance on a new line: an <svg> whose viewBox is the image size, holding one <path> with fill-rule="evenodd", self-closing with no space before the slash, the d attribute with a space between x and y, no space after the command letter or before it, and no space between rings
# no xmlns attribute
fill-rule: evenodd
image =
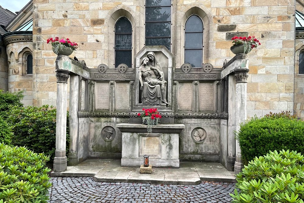
<svg viewBox="0 0 304 203"><path fill-rule="evenodd" d="M233 172L220 163L180 162L180 168L152 168L140 174L140 167L120 166L119 159L87 159L67 171L52 172L51 177L94 177L98 182L197 185L200 181L235 183Z"/></svg>

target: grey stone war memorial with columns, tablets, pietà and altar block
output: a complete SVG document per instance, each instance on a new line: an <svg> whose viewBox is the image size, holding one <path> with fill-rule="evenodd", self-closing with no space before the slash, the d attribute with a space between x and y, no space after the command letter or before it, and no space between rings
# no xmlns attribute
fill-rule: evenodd
<svg viewBox="0 0 304 203"><path fill-rule="evenodd" d="M165 46L144 46L135 55L134 68L126 64L87 68L84 60L59 54L54 171L96 158L140 166L147 155L155 167L179 168L180 161L203 161L239 172L243 165L233 131L246 119L248 63L247 54L240 53L224 61L222 68L210 63L176 68ZM66 155L68 93L71 142ZM234 107L229 114L228 106ZM151 107L162 118L148 133L138 114Z"/></svg>

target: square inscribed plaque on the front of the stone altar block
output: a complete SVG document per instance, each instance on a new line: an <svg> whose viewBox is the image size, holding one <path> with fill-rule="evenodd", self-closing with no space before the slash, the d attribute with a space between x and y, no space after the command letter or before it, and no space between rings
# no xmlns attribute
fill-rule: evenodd
<svg viewBox="0 0 304 203"><path fill-rule="evenodd" d="M142 155L160 155L160 141L158 136L142 136L141 137L141 154Z"/></svg>

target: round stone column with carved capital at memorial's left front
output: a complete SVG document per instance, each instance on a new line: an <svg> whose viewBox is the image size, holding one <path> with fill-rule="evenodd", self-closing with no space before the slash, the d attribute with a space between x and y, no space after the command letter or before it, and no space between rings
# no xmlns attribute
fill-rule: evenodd
<svg viewBox="0 0 304 203"><path fill-rule="evenodd" d="M56 151L54 172L67 170L66 135L67 135L67 79L69 71L56 70L57 77L57 119L56 119Z"/></svg>

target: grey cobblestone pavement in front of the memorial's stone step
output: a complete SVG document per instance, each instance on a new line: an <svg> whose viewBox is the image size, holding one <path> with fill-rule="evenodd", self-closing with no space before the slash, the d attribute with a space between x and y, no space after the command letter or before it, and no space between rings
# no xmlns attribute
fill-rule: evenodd
<svg viewBox="0 0 304 203"><path fill-rule="evenodd" d="M95 182L93 178L51 178L50 203L230 202L235 184L154 185Z"/></svg>

